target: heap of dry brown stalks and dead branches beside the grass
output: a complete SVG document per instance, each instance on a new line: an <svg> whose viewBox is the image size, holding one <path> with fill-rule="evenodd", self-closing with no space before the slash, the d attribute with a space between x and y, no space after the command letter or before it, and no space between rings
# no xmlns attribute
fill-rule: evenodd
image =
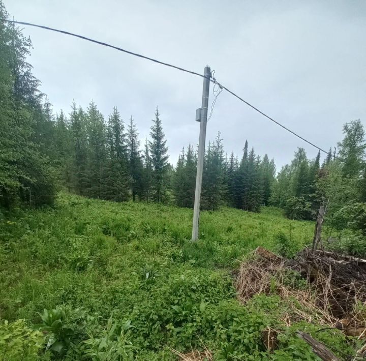
<svg viewBox="0 0 366 361"><path fill-rule="evenodd" d="M301 284L291 275L301 275ZM242 303L259 293L280 295L288 307L279 317L288 326L306 320L366 339L364 259L309 249L285 259L258 247L241 264L236 289Z"/></svg>

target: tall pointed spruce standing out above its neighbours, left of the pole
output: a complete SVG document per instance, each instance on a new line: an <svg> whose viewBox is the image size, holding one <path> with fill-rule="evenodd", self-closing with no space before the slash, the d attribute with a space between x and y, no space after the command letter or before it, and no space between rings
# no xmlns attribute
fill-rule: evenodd
<svg viewBox="0 0 366 361"><path fill-rule="evenodd" d="M156 202L162 202L166 199L168 170L168 147L159 115L157 107L155 119L153 119L153 125L150 128L151 141L149 142L151 165L153 166L151 190L153 200Z"/></svg>

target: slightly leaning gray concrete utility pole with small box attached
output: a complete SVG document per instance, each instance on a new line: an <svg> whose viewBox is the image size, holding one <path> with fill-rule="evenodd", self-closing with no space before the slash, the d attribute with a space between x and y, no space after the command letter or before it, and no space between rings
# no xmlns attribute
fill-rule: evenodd
<svg viewBox="0 0 366 361"><path fill-rule="evenodd" d="M198 239L199 211L201 204L202 172L203 172L204 146L206 141L208 93L209 93L210 77L211 77L211 69L209 66L206 66L203 78L202 108L197 109L196 111L196 121L200 122L201 124L200 124L200 137L198 143L195 205L193 210L193 226L192 226L193 242L195 242Z"/></svg>

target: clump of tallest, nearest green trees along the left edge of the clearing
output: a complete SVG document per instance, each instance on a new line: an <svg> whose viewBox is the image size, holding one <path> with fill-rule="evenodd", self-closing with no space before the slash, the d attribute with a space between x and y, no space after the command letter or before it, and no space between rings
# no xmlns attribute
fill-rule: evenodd
<svg viewBox="0 0 366 361"><path fill-rule="evenodd" d="M54 169L36 132L46 115L26 62L31 42L8 18L0 2L0 206L52 203Z"/></svg>

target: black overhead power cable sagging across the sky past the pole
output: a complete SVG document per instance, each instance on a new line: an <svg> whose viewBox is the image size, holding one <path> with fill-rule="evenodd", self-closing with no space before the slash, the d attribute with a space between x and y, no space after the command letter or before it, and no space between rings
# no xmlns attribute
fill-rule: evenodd
<svg viewBox="0 0 366 361"><path fill-rule="evenodd" d="M133 51L129 51L129 50L126 50L126 49L123 49L123 48L120 48L118 46L114 46L114 45L111 45L111 44L108 44L108 43L104 43L104 42L101 42L101 41L98 41L98 40L95 40L95 39L90 39L90 38L87 38L87 37L84 37L82 35L78 35L78 34L74 34L74 33L70 33L70 32L67 32L67 31L64 31L64 30L60 30L60 29L55 29L53 27L49 27L49 26L44 26L44 25L38 25L38 24L33 24L33 23L30 23L30 22L24 22L24 21L15 21L15 20L8 20L8 19L0 19L0 21L7 21L7 22L10 22L10 23L13 23L13 24L21 24L21 25L28 25L28 26L34 26L34 27L39 27L41 29L46 29L46 30L50 30L50 31L53 31L53 32L57 32L57 33L62 33L62 34L65 34L65 35L70 35L70 36L73 36L73 37L76 37L76 38L79 38L79 39L82 39L82 40L86 40L86 41L90 41L92 43L96 43L96 44L99 44L99 45L103 45L103 46L106 46L106 47L109 47L109 48L112 48L112 49L115 49L115 50L119 50L119 51L123 51L127 54L130 54L130 55L134 55L134 56L138 56L138 57L141 57L143 59L146 59L146 60L149 60L151 62L154 62L154 63L157 63L157 64L161 64L161 65L165 65L167 67L170 67L170 68L174 68L174 69L177 69L177 70L180 70L180 71L183 71L183 72L186 72L186 73L189 73L189 74L193 74L193 75L197 75L197 76L200 76L201 78L205 78L204 75L200 74L200 73L197 73L197 72L194 72L194 71L191 71L191 70L187 70L187 69L184 69L184 68L181 68L181 67L178 67L178 66L175 66L175 65L172 65L172 64L169 64L169 63L165 63L165 62L161 62L157 59L154 59L152 57L149 57L149 56L145 56L145 55L142 55L142 54L138 54L138 53L135 53ZM319 151L325 153L325 154L328 154L327 151L324 151L324 149L322 149L321 147L315 145L314 143L312 143L311 141L301 137L300 135L298 135L297 133L295 133L294 131L292 131L291 129L285 127L284 125L282 125L281 123L275 121L275 119L273 119L272 117L270 117L269 115L267 115L266 113L262 112L261 110L259 110L257 107L255 107L254 105L252 105L251 103L247 102L246 100L242 99L241 97L239 97L237 94L235 94L234 92L232 92L230 89L228 89L226 86L222 85L221 83L219 83L218 81L216 81L216 79L214 77L211 76L210 78L210 81L213 82L214 84L218 84L220 86L220 89L225 89L228 93L230 93L231 95L233 95L235 98L239 99L240 101L242 101L243 103L247 104L248 106L250 106L252 109L254 109L255 111L257 111L258 113L260 113L261 115L265 116L267 119L269 119L271 122L277 124L278 126L280 126L281 128L285 129L286 131L288 131L289 133L291 133L292 135L296 136L297 138L301 139L302 141L312 145L313 147L319 149ZM219 93L220 94L220 93ZM215 97L215 100L214 100L214 103L213 105L215 106L215 102L216 102L216 99L217 99L217 96ZM211 109L211 114L212 114L212 110L213 110L213 107Z"/></svg>

